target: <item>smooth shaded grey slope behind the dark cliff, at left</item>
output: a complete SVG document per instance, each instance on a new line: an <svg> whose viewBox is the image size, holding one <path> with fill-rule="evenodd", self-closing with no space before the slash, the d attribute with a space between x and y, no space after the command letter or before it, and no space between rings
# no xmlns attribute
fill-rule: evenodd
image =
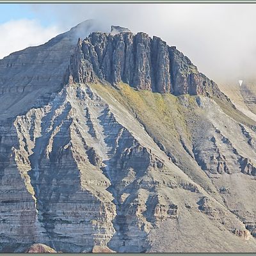
<svg viewBox="0 0 256 256"><path fill-rule="evenodd" d="M86 20L44 45L0 60L0 120L31 108L31 99L60 90L77 38L84 38L97 27L94 20Z"/></svg>

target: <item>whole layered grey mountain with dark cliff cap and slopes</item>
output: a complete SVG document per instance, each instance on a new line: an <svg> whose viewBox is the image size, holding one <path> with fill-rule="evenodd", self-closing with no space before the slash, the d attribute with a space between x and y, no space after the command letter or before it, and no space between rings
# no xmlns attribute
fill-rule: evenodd
<svg viewBox="0 0 256 256"><path fill-rule="evenodd" d="M161 38L78 28L0 60L1 252L255 252L255 120Z"/></svg>

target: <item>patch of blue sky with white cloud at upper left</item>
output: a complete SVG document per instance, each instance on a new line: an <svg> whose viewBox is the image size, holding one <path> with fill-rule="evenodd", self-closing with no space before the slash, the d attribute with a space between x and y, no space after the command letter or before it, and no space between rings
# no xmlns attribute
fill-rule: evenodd
<svg viewBox="0 0 256 256"><path fill-rule="evenodd" d="M0 59L14 51L44 44L67 30L58 26L52 10L46 4L0 3Z"/></svg>

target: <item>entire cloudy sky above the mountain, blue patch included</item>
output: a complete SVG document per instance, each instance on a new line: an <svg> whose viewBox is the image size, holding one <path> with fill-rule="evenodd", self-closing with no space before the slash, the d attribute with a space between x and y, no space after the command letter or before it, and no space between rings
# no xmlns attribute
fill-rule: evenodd
<svg viewBox="0 0 256 256"><path fill-rule="evenodd" d="M159 36L217 83L256 78L256 4L0 4L0 59L86 19Z"/></svg>

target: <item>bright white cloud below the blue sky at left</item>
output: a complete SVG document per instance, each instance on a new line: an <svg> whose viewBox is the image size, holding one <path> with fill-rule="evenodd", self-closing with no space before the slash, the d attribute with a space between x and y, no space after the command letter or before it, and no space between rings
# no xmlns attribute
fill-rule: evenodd
<svg viewBox="0 0 256 256"><path fill-rule="evenodd" d="M10 20L0 24L0 59L26 47L44 44L60 32L56 26L44 28L36 20Z"/></svg>

